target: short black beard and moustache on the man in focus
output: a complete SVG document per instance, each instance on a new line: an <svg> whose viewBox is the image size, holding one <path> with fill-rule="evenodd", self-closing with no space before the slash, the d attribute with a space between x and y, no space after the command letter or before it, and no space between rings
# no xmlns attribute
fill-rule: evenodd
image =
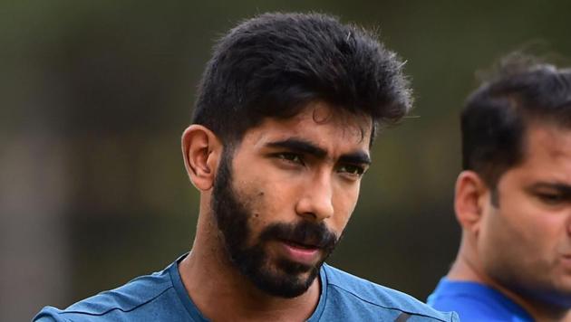
<svg viewBox="0 0 571 322"><path fill-rule="evenodd" d="M239 200L232 188L231 150L223 152L212 192L211 208L222 234L230 262L258 289L281 298L295 298L311 286L319 270L340 240L325 224L303 221L296 224L272 223L264 228L253 246L248 246L252 232L248 219L252 213ZM314 266L277 259L275 268L268 267L264 249L268 241L299 241L319 246L324 257ZM300 274L308 273L305 279Z"/></svg>

